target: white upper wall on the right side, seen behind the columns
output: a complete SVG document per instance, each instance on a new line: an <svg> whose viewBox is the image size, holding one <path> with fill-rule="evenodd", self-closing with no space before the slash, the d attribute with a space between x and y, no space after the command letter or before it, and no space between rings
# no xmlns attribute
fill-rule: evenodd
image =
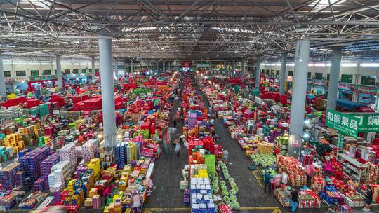
<svg viewBox="0 0 379 213"><path fill-rule="evenodd" d="M325 64L324 67L319 67L319 66L315 66L315 64ZM289 63L291 64L290 66L288 66L287 64L287 67L286 67L286 76L288 76L288 71L293 71L294 67L293 67L293 63ZM362 67L362 65L366 64L366 63L361 63L361 65L359 66L360 63L358 62L342 62L341 63L343 66L340 67L340 76L342 74L349 74L349 75L353 75L353 81L352 83L354 84L361 84L361 76L376 76L376 82L378 83L379 82L379 66L377 67ZM345 64L345 65L344 65ZM354 65L354 67L349 67L349 65ZM267 64L263 64L260 66L260 69L272 69L272 70L280 70L280 63L275 63L275 64L271 64L271 65L267 65ZM328 73L330 73L330 62L310 62L310 66L309 66L309 69L308 71L311 73L312 75L312 78L314 77L314 74L315 73L322 73L323 74L323 78L326 79L326 76Z"/></svg>

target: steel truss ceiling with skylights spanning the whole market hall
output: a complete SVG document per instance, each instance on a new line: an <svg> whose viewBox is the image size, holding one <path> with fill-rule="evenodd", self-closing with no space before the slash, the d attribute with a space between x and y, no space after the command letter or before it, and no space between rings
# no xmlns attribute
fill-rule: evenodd
<svg viewBox="0 0 379 213"><path fill-rule="evenodd" d="M117 58L230 60L292 55L298 39L311 57L376 60L376 0L0 0L5 55L91 56L98 36L113 38Z"/></svg>

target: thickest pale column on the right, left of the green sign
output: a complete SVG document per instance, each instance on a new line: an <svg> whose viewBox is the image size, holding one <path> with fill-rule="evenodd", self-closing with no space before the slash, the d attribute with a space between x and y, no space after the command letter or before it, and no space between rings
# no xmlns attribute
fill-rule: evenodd
<svg viewBox="0 0 379 213"><path fill-rule="evenodd" d="M295 68L293 71L293 90L291 104L290 138L288 155L297 157L302 146L301 137L304 127L305 94L307 93L308 62L310 60L310 41L296 41ZM298 142L299 146L292 146Z"/></svg>

